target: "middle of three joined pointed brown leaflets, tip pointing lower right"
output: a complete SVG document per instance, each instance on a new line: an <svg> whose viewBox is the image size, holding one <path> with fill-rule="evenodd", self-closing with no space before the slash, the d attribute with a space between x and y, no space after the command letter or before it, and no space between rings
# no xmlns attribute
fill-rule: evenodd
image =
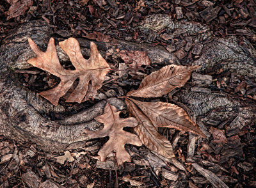
<svg viewBox="0 0 256 188"><path fill-rule="evenodd" d="M168 127L177 130L185 130L205 137L204 133L194 123L179 106L166 102L141 102L139 100L132 100L141 111L148 116L155 127Z"/></svg>

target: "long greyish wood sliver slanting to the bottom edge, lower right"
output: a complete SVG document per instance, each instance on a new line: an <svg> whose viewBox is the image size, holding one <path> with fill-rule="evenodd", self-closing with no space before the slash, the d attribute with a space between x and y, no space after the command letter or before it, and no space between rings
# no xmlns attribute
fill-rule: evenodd
<svg viewBox="0 0 256 188"><path fill-rule="evenodd" d="M200 166L197 163L193 163L192 166L201 175L203 175L205 178L207 178L207 180L209 180L209 182L212 184L213 187L216 187L216 188L228 188L228 186L220 178L218 178L218 176L216 176L211 171L209 171L209 170L207 170L205 168L202 168L202 166Z"/></svg>

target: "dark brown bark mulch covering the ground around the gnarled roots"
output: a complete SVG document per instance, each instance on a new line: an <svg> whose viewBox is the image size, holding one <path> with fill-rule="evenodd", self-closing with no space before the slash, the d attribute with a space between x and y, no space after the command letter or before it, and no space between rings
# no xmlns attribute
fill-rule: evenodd
<svg viewBox="0 0 256 188"><path fill-rule="evenodd" d="M189 54L198 58L198 49L189 47L182 38L168 40L166 31L145 33L138 29L141 20L152 14L171 15L173 20L200 22L210 27L212 35L239 36L255 45L256 1L115 1L115 0L0 0L0 44L9 31L31 20L44 20L52 27L54 35L68 38L89 38L107 42L113 38L136 43L149 43L152 47L163 45L177 58ZM165 35L164 35L165 34ZM188 47L187 47L188 46ZM182 56L180 47L186 47ZM192 52L193 51L193 52ZM109 51L111 52L111 51ZM122 61L122 58L107 59ZM67 67L70 65L66 65ZM118 68L118 64L115 65ZM71 67L70 67L71 68ZM107 97L123 95L127 88L138 88L141 79L159 67L142 67L136 74L127 75L119 85L106 84L102 92ZM58 83L58 78L35 69L35 74L19 72L20 81L31 90L40 91ZM256 100L256 79L237 79L236 74L223 72L222 77L212 78L211 89L236 93L237 96ZM125 75L126 76L126 75ZM124 77L125 77L124 76ZM202 79L199 79L202 81ZM196 75L188 84L198 81ZM118 94L116 94L118 93ZM163 97L160 100L169 100ZM97 100L82 104L61 104L68 109L66 114L44 114L51 120L61 120L72 113L82 111ZM123 111L127 117L127 111ZM237 116L232 121L209 120L203 122L211 134L207 141L196 141L187 132L159 129L172 141L176 160L163 161L147 148L127 145L132 162L117 168L115 157L106 162L97 160L100 146L106 138L88 141L84 148L63 154L45 153L33 143L17 143L0 136L0 188L2 187L256 187L256 134L255 127L240 127ZM242 123L243 124L243 123ZM232 129L230 129L230 127ZM188 139L189 137L189 139ZM200 143L196 144L196 143ZM188 145L195 147L189 156ZM57 157L57 158L56 158ZM220 180L225 184L221 184Z"/></svg>

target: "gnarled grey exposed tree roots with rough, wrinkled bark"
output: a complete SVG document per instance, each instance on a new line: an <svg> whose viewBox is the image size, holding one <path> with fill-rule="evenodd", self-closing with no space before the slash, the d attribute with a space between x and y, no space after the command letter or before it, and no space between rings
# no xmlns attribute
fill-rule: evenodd
<svg viewBox="0 0 256 188"><path fill-rule="evenodd" d="M107 61L109 57L106 56L106 51L110 48L114 49L111 54L114 61L118 61L118 51L121 50L146 51L150 61L161 66L201 65L202 67L196 73L202 75L211 74L220 78L225 76L223 72L236 72L238 78L255 77L256 52L246 39L234 36L215 38L211 36L206 26L189 22L173 22L165 24L164 27L168 27L170 31L175 30L173 36L182 33L186 42L195 44L195 49L192 51L200 56L196 60L191 58L180 60L164 47L150 47L145 43L132 43L124 40L95 43L100 54ZM150 24L146 23L141 28L145 29L145 32L153 32L152 29L150 30ZM146 31L147 29L149 30ZM156 27L154 29L156 30ZM90 139L82 134L84 129L100 129L100 123L93 118L102 114L106 101L102 100L93 107L67 117L65 120L51 121L44 118L43 114L64 112L65 108L60 104L56 107L52 106L47 100L22 86L15 70L31 67L27 61L35 57L35 53L29 47L28 38L34 40L40 49L45 50L51 36L57 42L64 40L54 35L51 27L45 22L33 21L15 29L3 40L0 49L0 134L18 141L33 141L46 151L62 152L67 148L84 146L84 143ZM81 45L83 55L89 56L90 40L84 38L77 40ZM196 44L199 45L196 46ZM57 45L57 52L61 61L68 61L67 55L59 45ZM207 120L227 121L230 127L240 126L241 128L248 123L254 124L255 100L221 90L209 92L207 90L206 93L202 91L191 91L185 86L173 94L178 98L173 102L185 106L202 129L205 129L202 117L207 117ZM124 102L118 98L108 98L108 102L116 106L118 110L125 109ZM207 134L206 129L205 132Z"/></svg>

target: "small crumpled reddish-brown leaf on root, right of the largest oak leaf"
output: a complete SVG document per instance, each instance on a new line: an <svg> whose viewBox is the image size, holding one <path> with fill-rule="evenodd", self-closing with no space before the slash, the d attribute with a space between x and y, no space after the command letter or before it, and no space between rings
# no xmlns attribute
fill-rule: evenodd
<svg viewBox="0 0 256 188"><path fill-rule="evenodd" d="M150 65L150 59L145 51L120 51L121 58L129 67L141 67L141 65Z"/></svg>

